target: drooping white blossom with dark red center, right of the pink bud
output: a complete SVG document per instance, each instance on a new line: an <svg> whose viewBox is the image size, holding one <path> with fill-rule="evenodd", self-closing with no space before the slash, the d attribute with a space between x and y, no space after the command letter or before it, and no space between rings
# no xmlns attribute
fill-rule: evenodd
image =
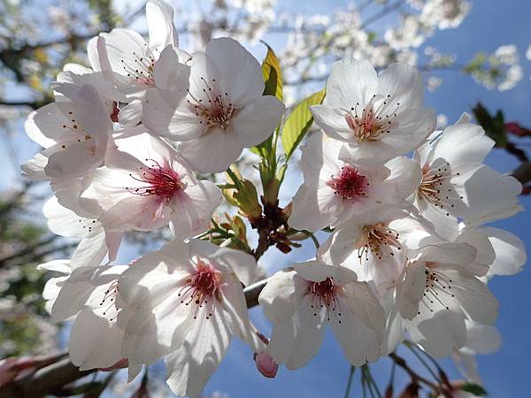
<svg viewBox="0 0 531 398"><path fill-rule="evenodd" d="M273 323L267 350L297 369L315 356L330 325L350 364L380 357L384 313L365 282L348 268L310 261L277 272L258 298Z"/></svg>

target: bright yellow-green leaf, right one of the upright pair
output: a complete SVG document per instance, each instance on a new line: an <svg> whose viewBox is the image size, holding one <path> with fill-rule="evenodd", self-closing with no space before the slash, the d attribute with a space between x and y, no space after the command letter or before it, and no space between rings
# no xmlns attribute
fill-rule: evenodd
<svg viewBox="0 0 531 398"><path fill-rule="evenodd" d="M296 104L295 109L289 114L286 123L282 126L282 148L286 153L286 161L293 155L297 145L303 140L313 123L312 112L309 106L319 105L325 98L325 88L307 97Z"/></svg>

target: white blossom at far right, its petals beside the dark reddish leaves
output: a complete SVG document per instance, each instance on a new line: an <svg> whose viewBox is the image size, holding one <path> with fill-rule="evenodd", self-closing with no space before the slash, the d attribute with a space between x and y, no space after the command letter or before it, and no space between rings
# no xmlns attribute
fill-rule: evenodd
<svg viewBox="0 0 531 398"><path fill-rule="evenodd" d="M415 153L422 182L414 204L447 239L458 232L456 218L483 224L521 210L518 180L482 165L493 146L481 126L459 121Z"/></svg>

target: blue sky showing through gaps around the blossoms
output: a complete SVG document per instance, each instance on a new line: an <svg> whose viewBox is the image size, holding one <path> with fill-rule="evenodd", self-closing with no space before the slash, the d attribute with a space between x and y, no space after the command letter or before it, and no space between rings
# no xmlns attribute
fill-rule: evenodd
<svg viewBox="0 0 531 398"><path fill-rule="evenodd" d="M306 1L306 12L327 12L344 1ZM503 109L507 120L518 120L531 126L531 62L523 57L531 41L531 2L522 0L481 0L473 1L473 10L458 29L441 31L429 39L426 45L432 45L443 52L458 55L458 61L465 62L476 50L493 51L503 44L515 43L522 57L524 78L517 88L497 92L482 88L470 77L456 72L444 72L443 86L434 93L427 93L427 103L438 113L445 114L450 123L458 119L463 111L470 111L477 100L481 100L489 110ZM291 10L300 2L279 0L281 8ZM385 28L379 25L378 29ZM273 38L272 38L273 39ZM274 40L274 39L273 39ZM12 93L16 96L17 93ZM528 140L531 142L531 140ZM25 160L35 153L23 136L15 139L19 160ZM0 153L1 149L0 149ZM5 159L4 153L2 158ZM516 161L501 150L495 150L488 158L489 165L500 172L509 172ZM19 172L0 160L4 169L4 179L0 180L0 190L9 187ZM531 196L522 197L525 208L531 208ZM531 241L530 216L527 212L497 222L517 234L529 246ZM304 260L312 256L312 247L307 244L292 256L280 256L271 249L266 262L274 269L289 265L289 262ZM527 373L531 362L531 299L527 284L531 285L531 271L525 269L517 276L494 279L490 285L501 303L497 326L504 339L503 347L495 355L480 356L479 365L484 384L490 396L496 398L514 398L527 396ZM251 310L251 317L268 332L269 325L261 316L259 309ZM405 352L404 352L405 355ZM445 361L450 375L458 377L450 361ZM385 386L389 375L389 361L382 359L373 364L377 379ZM348 376L349 365L342 356L341 349L328 333L319 355L299 371L281 369L276 379L265 379L255 370L249 348L235 341L207 387L205 393L219 390L231 398L261 397L342 397ZM359 374L359 373L358 373ZM398 375L401 375L399 372ZM404 377L402 377L404 381ZM357 383L359 384L359 383ZM358 397L354 387L352 397Z"/></svg>

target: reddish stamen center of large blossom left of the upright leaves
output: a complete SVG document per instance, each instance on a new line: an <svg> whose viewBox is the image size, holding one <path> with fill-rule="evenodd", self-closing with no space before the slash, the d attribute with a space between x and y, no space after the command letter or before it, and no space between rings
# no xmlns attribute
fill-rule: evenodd
<svg viewBox="0 0 531 398"><path fill-rule="evenodd" d="M201 80L204 82L201 94L204 98L198 98L189 91L188 103L194 108L199 124L204 125L204 132L211 127L226 130L235 111L233 103L228 93L219 94L215 79L212 79L212 84L203 77Z"/></svg>

